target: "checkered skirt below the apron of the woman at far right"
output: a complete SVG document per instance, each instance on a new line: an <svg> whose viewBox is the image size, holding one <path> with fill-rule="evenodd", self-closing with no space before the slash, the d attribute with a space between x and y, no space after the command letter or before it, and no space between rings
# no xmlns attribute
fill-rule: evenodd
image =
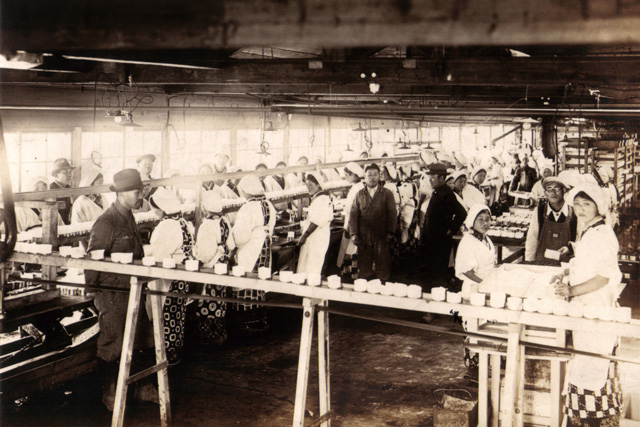
<svg viewBox="0 0 640 427"><path fill-rule="evenodd" d="M569 384L564 401L564 412L570 417L572 424L581 425L580 420L617 416L620 413L621 404L622 390L618 363L612 361L609 363L607 382L600 390L585 390Z"/></svg>

